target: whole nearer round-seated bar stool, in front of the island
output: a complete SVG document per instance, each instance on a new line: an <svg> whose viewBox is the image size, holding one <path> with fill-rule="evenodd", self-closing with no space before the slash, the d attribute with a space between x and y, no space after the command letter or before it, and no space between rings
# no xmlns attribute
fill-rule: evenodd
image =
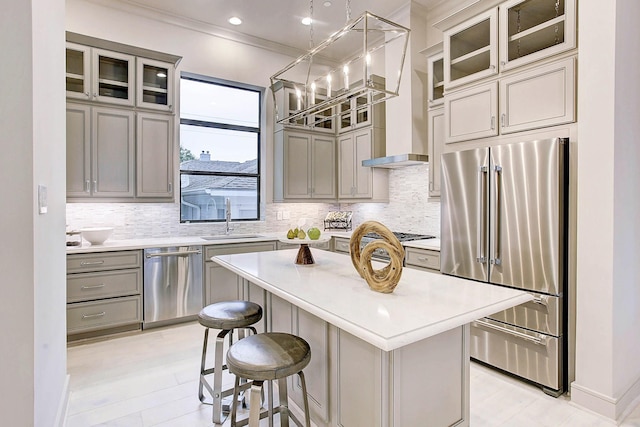
<svg viewBox="0 0 640 427"><path fill-rule="evenodd" d="M280 425L288 426L291 418L298 427L302 423L291 413L287 398L287 377L298 374L302 384L304 400L305 425L311 426L309 418L309 401L307 398L307 384L302 370L311 360L311 348L300 337L291 334L269 332L252 335L233 344L227 352L227 366L229 372L236 375L233 391L234 400L238 398L240 378L252 380L249 395L249 418L236 422L236 406L231 408L231 426L258 427L261 418L269 417L273 422L273 414L280 414ZM269 409L260 409L260 397L264 381L278 380L279 406L273 409L273 402L269 402Z"/></svg>

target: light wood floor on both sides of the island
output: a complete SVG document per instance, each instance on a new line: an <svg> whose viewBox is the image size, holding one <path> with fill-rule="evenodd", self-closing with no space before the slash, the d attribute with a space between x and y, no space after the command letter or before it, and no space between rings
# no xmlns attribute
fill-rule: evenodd
<svg viewBox="0 0 640 427"><path fill-rule="evenodd" d="M212 426L211 406L202 405L197 396L202 336L203 328L192 322L71 344L67 427ZM536 387L471 364L473 427L611 425L567 397L552 398ZM640 408L622 426L640 427Z"/></svg>

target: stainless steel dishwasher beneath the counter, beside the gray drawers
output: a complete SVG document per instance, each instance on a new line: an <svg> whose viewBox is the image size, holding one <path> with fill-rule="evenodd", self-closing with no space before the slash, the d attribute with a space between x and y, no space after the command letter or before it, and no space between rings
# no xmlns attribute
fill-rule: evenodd
<svg viewBox="0 0 640 427"><path fill-rule="evenodd" d="M144 250L143 329L195 319L202 309L202 246Z"/></svg>

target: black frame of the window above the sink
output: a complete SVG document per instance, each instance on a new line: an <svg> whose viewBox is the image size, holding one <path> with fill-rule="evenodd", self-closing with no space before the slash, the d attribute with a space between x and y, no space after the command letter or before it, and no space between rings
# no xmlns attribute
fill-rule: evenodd
<svg viewBox="0 0 640 427"><path fill-rule="evenodd" d="M208 122L208 121L204 121L204 120L183 119L181 115L179 117L180 126L182 126L184 124L184 125L188 125L188 126L200 126L200 127L207 127L207 128L213 128L213 129L222 129L222 130L232 130L232 131L238 131L238 132L255 133L256 134L256 142L257 142L257 147L256 147L256 168L257 168L257 171L256 171L256 173L207 172L207 171L182 170L182 168L181 168L182 165L181 165L180 159L178 159L178 164L180 165L178 172L179 172L180 182L182 181L182 175L183 174L185 174L185 175L198 175L198 176L255 178L256 179L256 213L257 213L256 217L255 218L233 218L232 217L231 220L234 221L234 222L261 221L262 220L262 209L261 209L261 207L262 207L262 199L261 199L261 194L262 194L262 167L261 167L262 160L261 160L261 153L262 153L262 130L263 130L262 128L264 126L264 117L263 117L262 104L263 104L264 95L265 95L265 88L264 87L260 87L260 86L246 84L246 83L240 83L240 82L236 82L236 81L220 79L220 78L217 78L217 77L211 77L211 76L205 76L205 75L202 75L202 74L190 73L190 72L186 72L186 71L182 71L180 73L180 81L182 81L182 79L193 80L193 81L198 81L198 82L203 82L203 83L210 83L210 84L229 87L229 88L233 88L233 89L240 89L240 90L248 90L248 91L252 91L252 92L257 92L257 94L258 94L258 127L256 127L256 128L251 127L251 126L232 125L232 124L228 124L228 123ZM180 114L182 114L182 113L180 113ZM181 144L179 144L179 145L180 145L180 147L182 147ZM180 204L180 223L181 224L222 223L222 222L226 221L225 218L183 220L182 219L182 187L180 187L180 195L179 195L178 202Z"/></svg>

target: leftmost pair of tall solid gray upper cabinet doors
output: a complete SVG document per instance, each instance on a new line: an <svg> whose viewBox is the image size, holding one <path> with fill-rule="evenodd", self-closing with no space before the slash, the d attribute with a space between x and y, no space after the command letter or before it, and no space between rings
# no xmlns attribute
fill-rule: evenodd
<svg viewBox="0 0 640 427"><path fill-rule="evenodd" d="M133 197L134 112L67 103L67 197Z"/></svg>

